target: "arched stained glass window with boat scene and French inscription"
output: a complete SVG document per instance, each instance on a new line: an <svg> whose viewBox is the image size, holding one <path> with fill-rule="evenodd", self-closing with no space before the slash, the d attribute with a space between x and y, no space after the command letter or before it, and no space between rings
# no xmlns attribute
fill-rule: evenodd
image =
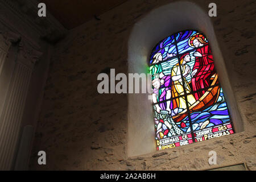
<svg viewBox="0 0 256 182"><path fill-rule="evenodd" d="M150 73L157 150L234 133L203 33L181 31L159 42Z"/></svg>

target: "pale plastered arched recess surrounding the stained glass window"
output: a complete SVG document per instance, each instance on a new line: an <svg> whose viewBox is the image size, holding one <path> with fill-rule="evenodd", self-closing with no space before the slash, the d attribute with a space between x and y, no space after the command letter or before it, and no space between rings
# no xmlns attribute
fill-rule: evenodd
<svg viewBox="0 0 256 182"><path fill-rule="evenodd" d="M152 10L139 20L131 31L128 42L128 72L144 73L148 69L149 56L155 44L174 32L198 30L209 39L215 67L230 108L236 133L243 131L237 102L226 72L208 12L195 3L175 2ZM128 96L127 155L137 156L156 151L154 118L148 94Z"/></svg>

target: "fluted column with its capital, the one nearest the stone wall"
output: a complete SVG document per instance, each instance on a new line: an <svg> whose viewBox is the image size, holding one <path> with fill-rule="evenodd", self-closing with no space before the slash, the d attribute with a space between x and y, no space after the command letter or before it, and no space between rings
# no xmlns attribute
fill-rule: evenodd
<svg viewBox="0 0 256 182"><path fill-rule="evenodd" d="M40 55L39 51L28 44L19 43L14 73L0 116L0 170L9 170L13 167L28 86L34 64Z"/></svg>

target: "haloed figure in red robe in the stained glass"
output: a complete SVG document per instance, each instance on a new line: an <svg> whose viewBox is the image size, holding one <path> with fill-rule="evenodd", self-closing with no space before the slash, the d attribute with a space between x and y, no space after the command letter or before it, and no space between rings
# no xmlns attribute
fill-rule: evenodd
<svg viewBox="0 0 256 182"><path fill-rule="evenodd" d="M193 56L196 57L195 65L192 69L192 89L196 100L207 91L205 88L210 86L210 77L215 73L212 51L209 44L201 34L196 34L189 39L189 46L196 47ZM201 90L204 89L204 90Z"/></svg>

